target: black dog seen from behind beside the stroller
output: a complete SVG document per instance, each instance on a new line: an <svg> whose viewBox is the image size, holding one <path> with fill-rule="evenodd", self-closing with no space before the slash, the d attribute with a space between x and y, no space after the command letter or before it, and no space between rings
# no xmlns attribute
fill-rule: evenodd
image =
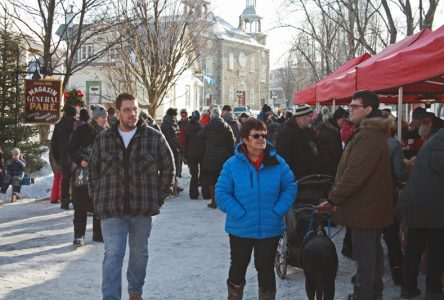
<svg viewBox="0 0 444 300"><path fill-rule="evenodd" d="M320 219L320 218L319 218ZM317 222L318 223L318 222ZM309 300L333 300L338 272L338 254L325 234L322 222L305 237L301 264L305 275L305 290Z"/></svg>

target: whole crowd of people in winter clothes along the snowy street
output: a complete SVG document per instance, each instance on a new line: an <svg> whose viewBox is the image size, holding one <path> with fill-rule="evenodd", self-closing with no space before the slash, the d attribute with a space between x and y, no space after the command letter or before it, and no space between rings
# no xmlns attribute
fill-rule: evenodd
<svg viewBox="0 0 444 300"><path fill-rule="evenodd" d="M115 108L63 111L49 153L51 203L67 210L73 203L76 247L85 244L93 213L92 239L105 243L103 299L121 297L127 239L128 293L142 299L151 218L167 197L184 190L177 180L184 165L189 198L210 200L208 207L226 213L228 299L242 299L253 249L259 299L275 299L273 266L284 217L297 199L298 180L312 174L335 177L319 209L347 227L341 252L357 263L348 299L382 299L381 237L402 298L421 293L417 277L426 245L427 299L444 297L444 125L424 108L404 123L403 143L394 137L395 117L379 110L378 96L367 90L353 95L348 110L323 107L316 114L302 104L276 116L265 104L257 118L236 118L229 105L191 113L169 108L160 126L128 93L117 97ZM11 151L7 166L1 149L0 155L1 191L12 184L20 193L20 150ZM400 230L407 233L404 248Z"/></svg>

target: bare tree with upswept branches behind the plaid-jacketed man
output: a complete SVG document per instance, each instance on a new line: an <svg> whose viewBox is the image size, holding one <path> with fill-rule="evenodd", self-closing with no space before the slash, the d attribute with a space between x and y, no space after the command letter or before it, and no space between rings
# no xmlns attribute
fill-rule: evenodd
<svg viewBox="0 0 444 300"><path fill-rule="evenodd" d="M122 6L129 39L118 48L118 63L112 68L115 81L132 89L141 87L151 115L178 78L196 61L200 26L179 1L132 0Z"/></svg>

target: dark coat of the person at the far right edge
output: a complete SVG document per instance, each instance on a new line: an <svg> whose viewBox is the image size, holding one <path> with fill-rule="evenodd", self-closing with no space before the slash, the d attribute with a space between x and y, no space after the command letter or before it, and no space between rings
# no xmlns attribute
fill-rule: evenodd
<svg viewBox="0 0 444 300"><path fill-rule="evenodd" d="M410 228L444 228L444 129L419 150L412 174L396 204Z"/></svg>

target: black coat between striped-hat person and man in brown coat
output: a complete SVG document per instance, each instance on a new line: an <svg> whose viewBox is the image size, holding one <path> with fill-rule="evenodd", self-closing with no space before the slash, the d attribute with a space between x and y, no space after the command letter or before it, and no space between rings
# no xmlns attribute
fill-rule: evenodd
<svg viewBox="0 0 444 300"><path fill-rule="evenodd" d="M342 155L341 130L335 120L329 119L319 126L318 146L321 173L334 177Z"/></svg>

